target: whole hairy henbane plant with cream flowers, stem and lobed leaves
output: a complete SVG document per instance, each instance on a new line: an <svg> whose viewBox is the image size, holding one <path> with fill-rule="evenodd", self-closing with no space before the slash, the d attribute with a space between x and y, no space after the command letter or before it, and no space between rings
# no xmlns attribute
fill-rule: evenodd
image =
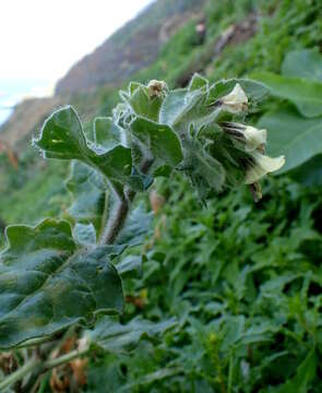
<svg viewBox="0 0 322 393"><path fill-rule="evenodd" d="M106 314L123 310L122 276L140 258L122 260L150 224L139 192L156 177L181 171L204 201L242 183L260 198L258 181L277 170L284 157L265 156L266 131L240 123L266 94L249 80L213 85L194 75L188 88L169 91L165 82L130 83L111 117L97 118L85 135L72 107L53 112L34 140L46 158L73 160L67 187L74 196L70 222L44 219L35 227L7 228L0 253L0 347L55 342L57 333L81 324L82 348L45 362L32 359L0 382L2 389L29 371L39 374L100 348L131 349L175 324L135 319L121 324ZM85 344L84 344L85 343Z"/></svg>

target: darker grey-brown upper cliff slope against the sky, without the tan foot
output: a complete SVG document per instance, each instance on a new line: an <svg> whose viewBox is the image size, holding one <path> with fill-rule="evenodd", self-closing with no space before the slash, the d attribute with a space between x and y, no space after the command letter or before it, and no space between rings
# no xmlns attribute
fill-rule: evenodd
<svg viewBox="0 0 322 393"><path fill-rule="evenodd" d="M162 46L205 0L158 0L87 55L57 84L56 93L74 94L119 85L151 64Z"/></svg>

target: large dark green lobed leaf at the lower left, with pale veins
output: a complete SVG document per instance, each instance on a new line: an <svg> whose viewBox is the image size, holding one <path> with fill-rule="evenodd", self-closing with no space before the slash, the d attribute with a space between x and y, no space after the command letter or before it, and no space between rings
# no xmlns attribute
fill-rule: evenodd
<svg viewBox="0 0 322 393"><path fill-rule="evenodd" d="M65 222L11 226L0 253L0 347L53 334L97 313L121 312L119 250L77 250Z"/></svg>

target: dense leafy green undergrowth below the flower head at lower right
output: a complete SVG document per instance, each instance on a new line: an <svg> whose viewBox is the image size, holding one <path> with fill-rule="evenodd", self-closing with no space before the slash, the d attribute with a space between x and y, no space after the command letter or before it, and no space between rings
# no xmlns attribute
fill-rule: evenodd
<svg viewBox="0 0 322 393"><path fill-rule="evenodd" d="M97 359L90 386L320 392L321 192L271 180L255 206L241 190L200 210L181 179L159 190L167 203L124 318L176 315L179 326L158 347Z"/></svg>

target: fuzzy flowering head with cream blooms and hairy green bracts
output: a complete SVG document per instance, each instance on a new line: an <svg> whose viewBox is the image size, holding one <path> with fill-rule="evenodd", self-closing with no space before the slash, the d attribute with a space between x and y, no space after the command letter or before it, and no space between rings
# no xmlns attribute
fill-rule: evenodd
<svg viewBox="0 0 322 393"><path fill-rule="evenodd" d="M255 99L252 91L259 90L266 93L265 86L253 81L210 85L199 74L188 87L178 90L157 80L146 85L130 83L128 91L120 92L122 103L110 119L114 130L122 134L123 146L131 148L128 184L133 187L138 176L145 183L151 176L177 169L188 177L201 200L242 183L249 184L259 200L259 180L285 163L283 156L265 155L266 130L236 122ZM150 163L148 171L142 174L145 163Z"/></svg>

